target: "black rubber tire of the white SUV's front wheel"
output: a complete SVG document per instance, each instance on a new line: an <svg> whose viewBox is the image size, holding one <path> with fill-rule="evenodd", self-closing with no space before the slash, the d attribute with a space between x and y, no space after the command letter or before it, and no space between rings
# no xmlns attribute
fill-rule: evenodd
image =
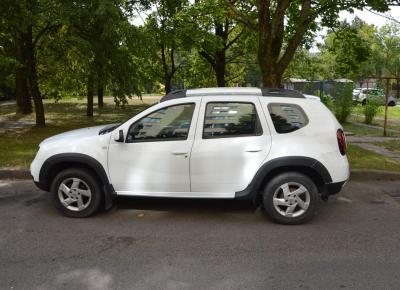
<svg viewBox="0 0 400 290"><path fill-rule="evenodd" d="M69 194L74 194L76 198L82 198L81 202L85 203L86 207L82 208L81 210L78 208L79 204L78 201L74 199L72 203L69 204L69 207L76 207L76 210L71 210L68 208L66 205L63 204L61 201L61 197L69 198L69 194L65 194L65 191L62 191L60 189L60 186L62 183L64 185L68 185L70 182L74 182L74 180L80 180L79 188L76 190L85 190L87 192L87 189L90 190L90 197L87 197L86 195L84 196L80 192L74 192ZM72 190L72 184L70 189ZM68 187L67 187L68 188ZM60 193L61 191L61 193ZM86 218L89 216L94 215L101 207L102 204L102 199L103 199L103 194L102 190L100 187L100 184L98 180L93 176L92 173L90 173L87 170L80 169L80 168L69 168L61 171L57 176L54 178L53 183L51 185L51 193L53 194L54 202L56 204L56 207L61 211L62 214L68 217L73 217L73 218ZM87 194L87 193L86 193ZM79 197L78 197L79 195ZM75 198L75 197L74 197ZM70 201L71 199L69 199ZM68 201L68 202L69 202Z"/></svg>

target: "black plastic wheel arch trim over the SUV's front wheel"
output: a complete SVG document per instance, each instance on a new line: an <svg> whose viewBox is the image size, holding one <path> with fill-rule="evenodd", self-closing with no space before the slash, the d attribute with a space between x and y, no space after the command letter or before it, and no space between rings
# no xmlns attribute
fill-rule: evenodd
<svg viewBox="0 0 400 290"><path fill-rule="evenodd" d="M101 187L105 194L105 207L106 209L112 206L113 196L115 195L114 188L110 183L107 173L99 161L93 157L81 154L81 153L61 153L49 157L42 165L39 173L39 182L35 182L36 185L42 189L49 191L52 177L54 177L54 170L57 169L57 165L65 163L70 164L81 164L96 173L97 177L101 181Z"/></svg>

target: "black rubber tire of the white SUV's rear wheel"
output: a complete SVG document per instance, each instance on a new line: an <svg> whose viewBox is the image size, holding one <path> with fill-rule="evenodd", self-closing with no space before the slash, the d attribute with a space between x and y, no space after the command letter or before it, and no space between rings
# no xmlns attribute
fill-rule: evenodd
<svg viewBox="0 0 400 290"><path fill-rule="evenodd" d="M288 201L286 201L283 189L281 188L281 186L285 184L288 185L288 189L291 195L290 197L287 197ZM299 187L299 185L303 186L307 190L308 195L306 192L303 192L300 194L300 196L295 197L295 190L301 188ZM301 188L300 191L302 190L303 188ZM285 205L274 205L275 194L276 199L279 199L278 201L285 202ZM307 196L308 202L306 198ZM302 206L306 209L303 209L303 207L300 207L298 205L300 203L298 198L303 200ZM285 225L297 225L309 221L315 215L319 207L320 198L318 194L318 189L310 178L298 172L287 172L275 176L271 179L271 181L267 183L264 188L262 201L266 214L273 221ZM278 207L279 211L276 207ZM293 208L293 214L287 213L286 210L289 207ZM284 216L285 214L292 216Z"/></svg>

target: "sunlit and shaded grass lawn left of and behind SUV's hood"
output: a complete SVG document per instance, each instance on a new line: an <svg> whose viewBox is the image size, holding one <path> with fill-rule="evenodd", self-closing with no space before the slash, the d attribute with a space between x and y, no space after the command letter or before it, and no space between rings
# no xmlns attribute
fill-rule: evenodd
<svg viewBox="0 0 400 290"><path fill-rule="evenodd" d="M0 168L27 168L43 139L77 128L123 122L157 101L156 98L144 98L143 102L134 99L124 107L116 107L111 98L106 98L104 108L95 109L93 118L87 118L85 100L71 99L59 103L45 100L47 122L45 128L29 127L0 132L0 148L2 149ZM34 114L21 116L14 112L15 105L1 106L0 122L2 120L34 121Z"/></svg>

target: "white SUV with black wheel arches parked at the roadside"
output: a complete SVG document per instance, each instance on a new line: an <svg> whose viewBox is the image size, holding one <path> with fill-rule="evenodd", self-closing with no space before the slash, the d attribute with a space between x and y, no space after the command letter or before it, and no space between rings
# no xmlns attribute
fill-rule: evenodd
<svg viewBox="0 0 400 290"><path fill-rule="evenodd" d="M116 196L226 198L299 224L348 180L345 151L342 127L319 101L207 88L167 94L123 124L50 137L31 174L71 217L107 209Z"/></svg>

